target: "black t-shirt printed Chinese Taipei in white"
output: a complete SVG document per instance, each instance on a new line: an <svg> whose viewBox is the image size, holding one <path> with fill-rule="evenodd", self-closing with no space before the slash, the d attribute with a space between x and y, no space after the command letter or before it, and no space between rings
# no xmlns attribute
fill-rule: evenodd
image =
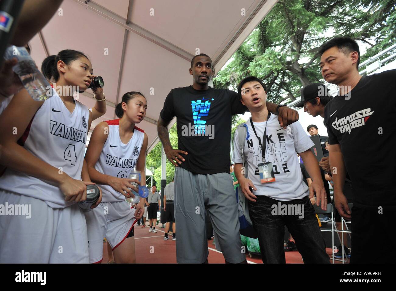
<svg viewBox="0 0 396 291"><path fill-rule="evenodd" d="M339 144L358 207L396 206L396 70L362 76L325 107L329 144Z"/></svg>

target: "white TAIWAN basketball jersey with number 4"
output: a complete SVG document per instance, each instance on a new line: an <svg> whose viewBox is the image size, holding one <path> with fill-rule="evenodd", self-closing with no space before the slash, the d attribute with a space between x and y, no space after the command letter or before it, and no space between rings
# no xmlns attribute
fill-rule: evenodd
<svg viewBox="0 0 396 291"><path fill-rule="evenodd" d="M47 162L73 179L81 180L84 150L88 133L89 110L75 101L73 112L55 94L44 101L19 139L22 145L40 160ZM44 200L53 208L71 205L54 183L7 169L0 178L1 188Z"/></svg>

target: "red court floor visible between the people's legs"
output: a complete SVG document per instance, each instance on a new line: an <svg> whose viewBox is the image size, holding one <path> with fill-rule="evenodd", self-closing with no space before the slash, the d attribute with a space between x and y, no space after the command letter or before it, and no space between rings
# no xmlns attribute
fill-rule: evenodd
<svg viewBox="0 0 396 291"><path fill-rule="evenodd" d="M148 223L147 223L148 224ZM136 263L138 264L175 264L176 263L176 242L169 235L169 240L164 240L165 228L160 228L160 224L156 226L157 233L148 232L149 227L142 228L135 224L135 250ZM176 232L177 233L177 232ZM209 257L208 262L214 264L224 264L222 253L216 250L213 240L208 240ZM151 250L151 252L150 252ZM331 249L326 248L328 255L331 255ZM285 253L287 264L303 264L303 258L298 251L289 251ZM249 257L246 254L248 263L262 264L261 257L253 255ZM330 260L330 259L329 259ZM348 259L349 261L349 259ZM102 264L108 262L107 242L103 243L103 261ZM336 263L341 263L335 261Z"/></svg>

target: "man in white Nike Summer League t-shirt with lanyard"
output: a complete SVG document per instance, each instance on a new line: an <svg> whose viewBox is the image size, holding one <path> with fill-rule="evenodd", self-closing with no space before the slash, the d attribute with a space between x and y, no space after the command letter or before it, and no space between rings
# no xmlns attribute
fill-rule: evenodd
<svg viewBox="0 0 396 291"><path fill-rule="evenodd" d="M305 263L329 263L318 220L308 199L316 192L317 205L322 202L322 209L326 209L320 169L310 150L312 141L299 122L286 129L279 126L276 116L267 110L265 86L258 78L242 80L238 94L251 112L245 124L247 135L243 148L248 179L242 174L238 131L234 136L234 169L242 192L249 200L249 214L259 235L263 262L285 263L286 225ZM309 189L303 183L297 152L312 178Z"/></svg>

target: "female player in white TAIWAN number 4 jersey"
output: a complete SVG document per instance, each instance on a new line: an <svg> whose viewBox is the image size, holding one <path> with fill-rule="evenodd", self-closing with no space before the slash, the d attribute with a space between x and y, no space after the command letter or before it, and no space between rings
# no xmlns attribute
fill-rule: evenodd
<svg viewBox="0 0 396 291"><path fill-rule="evenodd" d="M16 94L0 116L0 163L7 167L0 205L13 210L0 216L0 262L88 263L86 222L76 202L94 184L84 160L92 113L73 93L76 86L87 89L92 66L83 53L63 50L47 57L42 71L72 89L42 102Z"/></svg>

